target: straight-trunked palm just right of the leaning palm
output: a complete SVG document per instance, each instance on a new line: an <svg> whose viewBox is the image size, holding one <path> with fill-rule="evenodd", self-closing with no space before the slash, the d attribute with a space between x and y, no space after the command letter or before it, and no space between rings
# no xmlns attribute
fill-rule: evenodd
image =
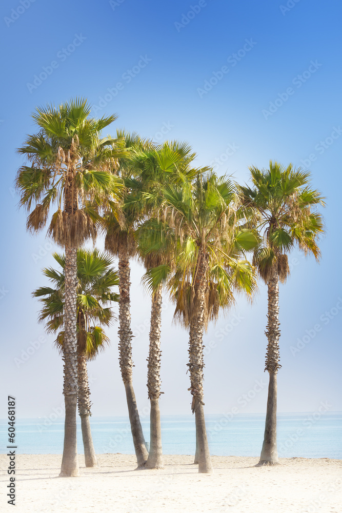
<svg viewBox="0 0 342 513"><path fill-rule="evenodd" d="M131 205L140 213L140 227L135 231L138 241L138 254L149 272L154 268L171 262L173 258L174 237L167 225L153 219L163 204L162 188L167 183L183 183L191 179L197 170L190 164L195 154L187 143L166 141L158 147L135 148L131 164L136 172L132 184L135 198ZM152 216L152 219L151 219ZM143 225L144 219L148 219ZM150 218L150 219L149 219ZM160 391L160 325L162 313L162 284L156 288L149 286L152 295L151 330L148 358L148 398L150 411L150 451L144 468L163 468L162 431L160 426L159 397Z"/></svg>

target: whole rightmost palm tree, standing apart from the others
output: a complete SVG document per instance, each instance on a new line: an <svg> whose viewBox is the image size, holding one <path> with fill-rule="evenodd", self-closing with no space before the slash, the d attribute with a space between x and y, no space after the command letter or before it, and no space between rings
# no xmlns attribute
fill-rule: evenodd
<svg viewBox="0 0 342 513"><path fill-rule="evenodd" d="M251 222L263 245L255 251L253 262L260 278L268 286L268 339L265 371L270 381L267 399L265 435L257 466L277 465L276 442L277 372L279 364L279 280L284 283L290 274L288 254L295 244L305 254L312 253L318 261L318 236L324 232L323 219L317 211L324 198L311 189L310 173L287 168L270 161L270 168L250 167L253 187L239 187L240 202L251 216Z"/></svg>

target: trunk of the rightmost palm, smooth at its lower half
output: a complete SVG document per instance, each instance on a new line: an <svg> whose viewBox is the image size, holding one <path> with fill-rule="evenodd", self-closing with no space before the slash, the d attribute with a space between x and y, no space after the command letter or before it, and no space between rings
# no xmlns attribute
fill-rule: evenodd
<svg viewBox="0 0 342 513"><path fill-rule="evenodd" d="M268 387L264 443L259 463L256 466L278 465L277 452L277 372L279 364L279 285L274 268L268 282L268 324L265 334L268 338L266 367L270 382Z"/></svg>

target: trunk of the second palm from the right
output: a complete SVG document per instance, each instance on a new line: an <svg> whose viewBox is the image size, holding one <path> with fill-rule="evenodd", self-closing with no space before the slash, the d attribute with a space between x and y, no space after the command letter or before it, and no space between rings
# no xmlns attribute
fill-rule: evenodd
<svg viewBox="0 0 342 513"><path fill-rule="evenodd" d="M196 269L195 293L196 314L190 323L189 333L189 371L192 394L192 412L196 420L196 445L198 449L198 472L210 473L213 471L211 463L206 423L204 418L203 402L203 331L205 324L205 293L206 273L208 268L208 255L202 251L198 253Z"/></svg>

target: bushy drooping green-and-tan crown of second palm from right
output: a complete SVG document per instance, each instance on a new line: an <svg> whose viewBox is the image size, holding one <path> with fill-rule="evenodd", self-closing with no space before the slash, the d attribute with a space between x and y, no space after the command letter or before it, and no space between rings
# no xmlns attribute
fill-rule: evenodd
<svg viewBox="0 0 342 513"><path fill-rule="evenodd" d="M168 280L168 289L176 305L174 319L188 327L202 308L197 295L200 286L205 287L205 327L231 307L236 292L252 297L256 289L254 267L244 254L258 246L257 233L243 224L243 214L234 208L231 180L205 169L186 186L163 188L164 216L178 238L176 271ZM203 255L208 263L199 279Z"/></svg>

